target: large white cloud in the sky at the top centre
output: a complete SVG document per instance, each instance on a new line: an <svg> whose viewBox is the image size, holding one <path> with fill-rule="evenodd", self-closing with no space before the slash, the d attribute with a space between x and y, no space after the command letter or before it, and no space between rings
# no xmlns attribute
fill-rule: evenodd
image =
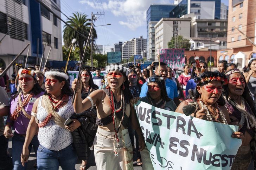
<svg viewBox="0 0 256 170"><path fill-rule="evenodd" d="M115 16L123 16L125 20L119 21L119 24L131 30L136 30L136 28L145 25L149 5L157 3L155 0L109 0L102 2L102 4L97 2L91 0L79 1L79 3L95 9L103 8L105 11L112 12Z"/></svg>

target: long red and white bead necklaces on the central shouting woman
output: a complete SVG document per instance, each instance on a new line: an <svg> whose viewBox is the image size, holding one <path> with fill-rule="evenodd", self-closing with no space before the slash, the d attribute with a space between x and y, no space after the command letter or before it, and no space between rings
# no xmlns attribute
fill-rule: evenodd
<svg viewBox="0 0 256 170"><path fill-rule="evenodd" d="M119 156L119 154L117 153L117 149L120 149L120 140L119 140L119 137L118 137L118 132L119 132L119 129L123 123L123 118L124 118L124 114L125 114L125 100L124 100L124 97L123 97L123 91L121 92L121 106L119 109L116 109L116 106L115 106L115 101L114 101L114 95L113 95L113 91L109 88L109 100L110 100L110 108L111 108L111 115L112 115L112 119L113 119L113 125L114 125L114 130L115 130L115 142L114 142L114 154L115 156ZM123 115L122 115L122 118L120 120L120 123L116 129L116 114L123 111Z"/></svg>

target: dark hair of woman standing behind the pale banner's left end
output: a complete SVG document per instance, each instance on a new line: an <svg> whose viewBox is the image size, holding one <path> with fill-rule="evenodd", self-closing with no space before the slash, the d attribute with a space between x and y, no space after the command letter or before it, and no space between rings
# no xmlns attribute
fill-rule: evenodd
<svg viewBox="0 0 256 170"><path fill-rule="evenodd" d="M161 89L161 97L165 100L165 101L170 101L172 100L171 98L168 97L167 95L167 91L166 91L166 87L165 87L165 80L161 79L161 76L159 75L153 75L151 77L148 78L149 79L149 83L150 82L154 82L157 83L159 88ZM151 81L152 79L155 79L154 81ZM149 93L147 92L147 97L150 97Z"/></svg>

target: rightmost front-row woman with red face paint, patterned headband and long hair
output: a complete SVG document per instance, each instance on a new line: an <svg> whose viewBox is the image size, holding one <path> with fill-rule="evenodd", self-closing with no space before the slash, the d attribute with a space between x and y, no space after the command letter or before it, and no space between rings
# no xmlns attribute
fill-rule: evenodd
<svg viewBox="0 0 256 170"><path fill-rule="evenodd" d="M251 162L251 151L254 151L254 155L256 154L256 108L243 74L234 69L226 72L225 75L229 82L223 86L226 107L228 108L231 122L239 124L239 132L244 134L242 146L238 149L231 170L244 170L248 169ZM254 150L251 150L250 146L254 146Z"/></svg>

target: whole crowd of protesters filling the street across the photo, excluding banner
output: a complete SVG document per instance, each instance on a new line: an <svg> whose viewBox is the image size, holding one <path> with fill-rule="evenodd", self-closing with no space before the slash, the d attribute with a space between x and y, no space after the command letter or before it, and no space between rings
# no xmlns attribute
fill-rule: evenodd
<svg viewBox="0 0 256 170"><path fill-rule="evenodd" d="M254 159L256 59L243 72L224 60L215 72L204 61L185 64L183 70L164 62L143 69L115 63L85 67L72 82L64 67L39 67L14 69L11 78L0 78L0 169L25 170L33 148L38 170L72 170L77 159L85 170L91 147L97 169L133 169L134 156L142 169L153 169L134 109L138 100L182 114L183 107L194 104L193 117L239 124L239 131L230 134L242 139L231 169L247 169ZM79 64L68 67L75 70ZM12 157L7 152L10 138Z"/></svg>

